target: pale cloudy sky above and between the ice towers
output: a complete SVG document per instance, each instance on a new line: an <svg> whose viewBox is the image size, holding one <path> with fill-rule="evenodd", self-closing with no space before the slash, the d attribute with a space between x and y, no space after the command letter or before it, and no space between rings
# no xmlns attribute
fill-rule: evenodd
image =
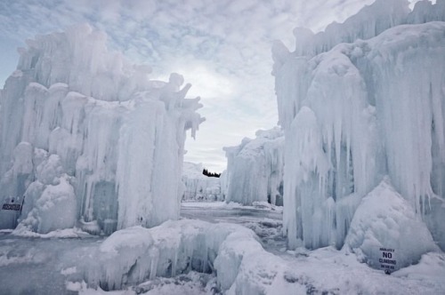
<svg viewBox="0 0 445 295"><path fill-rule="evenodd" d="M186 161L223 171L223 147L277 124L271 42L294 49L295 27L324 29L374 0L1 0L0 88L16 67L17 47L37 34L88 22L109 36L109 48L151 77L177 72L201 97L206 116Z"/></svg>

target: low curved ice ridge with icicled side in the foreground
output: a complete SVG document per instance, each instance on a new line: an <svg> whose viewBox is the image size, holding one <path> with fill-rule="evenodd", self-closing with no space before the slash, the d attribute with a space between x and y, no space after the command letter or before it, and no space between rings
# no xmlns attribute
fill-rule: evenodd
<svg viewBox="0 0 445 295"><path fill-rule="evenodd" d="M71 259L69 268L78 273L72 277L80 275L93 288L124 289L156 276L195 270L214 272L227 294L273 294L277 286L295 291L295 283L286 278L290 269L285 261L265 251L252 230L235 224L166 221L158 227L119 230L96 245L69 254L77 257Z"/></svg>

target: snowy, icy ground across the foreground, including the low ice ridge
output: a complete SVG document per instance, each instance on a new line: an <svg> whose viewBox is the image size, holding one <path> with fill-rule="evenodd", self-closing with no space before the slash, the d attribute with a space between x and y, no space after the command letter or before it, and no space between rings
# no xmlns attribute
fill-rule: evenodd
<svg viewBox="0 0 445 295"><path fill-rule="evenodd" d="M1 290L7 294L445 293L443 253L425 254L417 265L385 275L383 270L360 263L356 255L333 247L287 251L281 235L281 214L280 207L263 203L248 207L236 203L183 203L182 220L168 221L151 229L130 227L109 237L80 232L77 238L57 237L67 236L63 232L56 232L51 238L22 237L3 231ZM177 250L182 249L177 251L178 275L150 280L149 275L141 281L132 281L137 274L143 274L143 266L134 267L137 263L131 266L132 259L150 261L147 258L150 251L146 249L156 245L160 253L158 274L162 273L161 260L166 249L173 249L175 243ZM186 260L180 256L191 251L189 246L200 250L192 254L195 258L191 271L181 274ZM203 249L207 249L209 267L199 265L200 260L196 259ZM217 250L216 257L211 258L210 249ZM125 262L129 267L125 268ZM151 262L147 263L145 268L150 270ZM205 273L199 272L199 267ZM172 267L165 269L172 272ZM101 290L100 286L112 289L103 282L114 282L116 277L118 282L124 282L123 290Z"/></svg>

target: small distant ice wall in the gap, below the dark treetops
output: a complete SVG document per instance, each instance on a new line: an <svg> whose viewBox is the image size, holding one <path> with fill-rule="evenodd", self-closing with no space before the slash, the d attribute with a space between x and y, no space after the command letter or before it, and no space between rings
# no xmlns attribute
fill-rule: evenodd
<svg viewBox="0 0 445 295"><path fill-rule="evenodd" d="M223 201L221 179L202 174L202 163L184 162L182 182L185 186L182 201Z"/></svg>

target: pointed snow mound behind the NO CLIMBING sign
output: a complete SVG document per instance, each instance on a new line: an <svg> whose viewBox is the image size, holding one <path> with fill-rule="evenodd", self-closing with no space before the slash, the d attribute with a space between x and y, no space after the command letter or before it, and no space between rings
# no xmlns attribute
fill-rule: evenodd
<svg viewBox="0 0 445 295"><path fill-rule="evenodd" d="M425 223L389 179L361 200L344 247L376 268L382 258L380 248L392 249L392 257L397 261L395 269L417 263L426 252L439 251Z"/></svg>

